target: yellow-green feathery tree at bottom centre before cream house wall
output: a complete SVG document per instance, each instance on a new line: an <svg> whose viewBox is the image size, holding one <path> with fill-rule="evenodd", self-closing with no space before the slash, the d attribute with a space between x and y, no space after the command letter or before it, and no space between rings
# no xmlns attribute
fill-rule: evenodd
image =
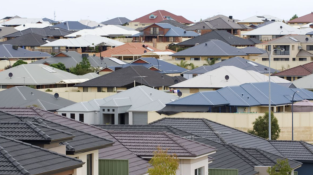
<svg viewBox="0 0 313 175"><path fill-rule="evenodd" d="M168 154L167 149L163 150L161 147L157 147L156 149L149 161L152 168L148 168L147 173L150 175L176 175L179 165L177 155Z"/></svg>

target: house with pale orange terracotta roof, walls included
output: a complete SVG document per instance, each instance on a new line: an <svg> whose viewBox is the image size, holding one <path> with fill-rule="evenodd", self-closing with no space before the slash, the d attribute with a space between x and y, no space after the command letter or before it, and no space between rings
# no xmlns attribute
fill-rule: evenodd
<svg viewBox="0 0 313 175"><path fill-rule="evenodd" d="M142 55L147 52L163 52L163 51L156 49L155 47L151 47L150 45L147 45L147 44L130 42L130 43L125 43L121 46L103 51L101 53L96 53L96 56L114 57L120 60L136 60L138 58L141 58ZM159 58L159 57L156 57L156 58Z"/></svg>

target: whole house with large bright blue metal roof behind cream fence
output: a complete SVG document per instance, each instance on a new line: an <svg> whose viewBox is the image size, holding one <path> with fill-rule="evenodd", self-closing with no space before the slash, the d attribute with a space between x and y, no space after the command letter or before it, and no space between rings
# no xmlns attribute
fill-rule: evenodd
<svg viewBox="0 0 313 175"><path fill-rule="evenodd" d="M269 109L268 87L269 82L245 83L216 91L198 92L167 103L159 113L264 113ZM294 101L313 100L312 91L287 88L271 82L271 110L274 113L291 111L292 96L296 91L299 92L295 94Z"/></svg>

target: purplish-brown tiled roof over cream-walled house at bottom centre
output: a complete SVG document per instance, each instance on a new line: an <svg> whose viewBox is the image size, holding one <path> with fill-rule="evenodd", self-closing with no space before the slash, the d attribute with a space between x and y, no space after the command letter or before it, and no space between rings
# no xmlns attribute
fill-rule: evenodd
<svg viewBox="0 0 313 175"><path fill-rule="evenodd" d="M182 157L198 157L216 151L215 148L167 132L109 131L126 148L137 156L153 156L160 146L167 153Z"/></svg>

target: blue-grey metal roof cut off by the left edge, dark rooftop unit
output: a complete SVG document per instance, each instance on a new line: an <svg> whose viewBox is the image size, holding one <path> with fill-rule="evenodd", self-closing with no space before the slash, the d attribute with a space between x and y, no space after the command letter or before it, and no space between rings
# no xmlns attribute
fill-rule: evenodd
<svg viewBox="0 0 313 175"><path fill-rule="evenodd" d="M29 51L18 47L18 49L13 49L12 44L1 44L0 43L0 58L47 58L51 57L49 53L40 51Z"/></svg>

